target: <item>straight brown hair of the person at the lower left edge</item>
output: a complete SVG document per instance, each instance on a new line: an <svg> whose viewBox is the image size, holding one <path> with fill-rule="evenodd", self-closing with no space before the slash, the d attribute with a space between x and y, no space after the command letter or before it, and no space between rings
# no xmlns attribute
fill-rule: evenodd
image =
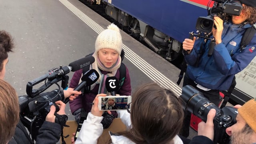
<svg viewBox="0 0 256 144"><path fill-rule="evenodd" d="M18 95L14 88L0 79L0 144L7 144L19 122Z"/></svg>

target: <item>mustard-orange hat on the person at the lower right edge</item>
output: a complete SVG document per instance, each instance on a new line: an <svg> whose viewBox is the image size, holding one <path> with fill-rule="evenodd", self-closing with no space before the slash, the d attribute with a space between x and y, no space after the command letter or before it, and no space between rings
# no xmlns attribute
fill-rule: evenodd
<svg viewBox="0 0 256 144"><path fill-rule="evenodd" d="M238 108L238 114L244 118L246 123L256 132L256 99L249 100L241 108Z"/></svg>

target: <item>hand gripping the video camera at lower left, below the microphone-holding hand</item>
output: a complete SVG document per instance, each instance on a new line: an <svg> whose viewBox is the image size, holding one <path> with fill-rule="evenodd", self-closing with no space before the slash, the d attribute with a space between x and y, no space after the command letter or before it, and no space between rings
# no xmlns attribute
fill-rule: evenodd
<svg viewBox="0 0 256 144"><path fill-rule="evenodd" d="M60 110L57 112L57 114L59 114L59 115L66 114L66 113L65 113L66 104L64 104L64 102L62 102L61 100L59 100L59 101L55 102L55 104L56 104L57 106L59 106L59 108L60 108ZM55 117L56 117L56 116L54 116L55 111L56 111L55 106L51 106L50 112L47 114L45 120L48 121L48 122L55 122Z"/></svg>

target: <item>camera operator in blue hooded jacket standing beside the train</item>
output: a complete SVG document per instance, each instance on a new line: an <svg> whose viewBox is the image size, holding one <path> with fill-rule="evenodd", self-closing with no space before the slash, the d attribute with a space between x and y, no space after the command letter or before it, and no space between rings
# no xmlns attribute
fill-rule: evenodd
<svg viewBox="0 0 256 144"><path fill-rule="evenodd" d="M242 71L256 56L256 35L244 48L240 47L242 36L247 28L256 23L256 1L238 0L242 5L239 16L228 16L224 21L214 16L212 36L215 46L208 56L210 41L196 37L185 39L183 54L188 64L183 86L192 85L216 106L222 98L220 91L228 90L235 83L234 75ZM188 137L190 113L186 114L181 135Z"/></svg>

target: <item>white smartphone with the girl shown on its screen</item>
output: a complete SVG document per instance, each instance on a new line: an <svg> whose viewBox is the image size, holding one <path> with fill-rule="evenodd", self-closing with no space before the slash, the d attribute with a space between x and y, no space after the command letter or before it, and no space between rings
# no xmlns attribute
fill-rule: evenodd
<svg viewBox="0 0 256 144"><path fill-rule="evenodd" d="M132 102L131 96L99 96L99 110L126 110L125 106ZM130 106L128 107L130 108Z"/></svg>

